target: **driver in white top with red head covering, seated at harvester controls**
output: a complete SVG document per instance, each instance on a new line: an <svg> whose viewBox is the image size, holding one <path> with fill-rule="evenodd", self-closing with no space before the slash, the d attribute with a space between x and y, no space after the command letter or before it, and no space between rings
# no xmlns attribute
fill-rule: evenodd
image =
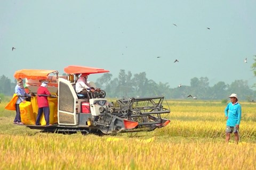
<svg viewBox="0 0 256 170"><path fill-rule="evenodd" d="M87 94L91 92L93 97L98 97L100 88L94 89L93 87L91 87L91 85L87 82L88 75L89 74L87 73L81 74L80 78L76 82L76 93L87 96Z"/></svg>

